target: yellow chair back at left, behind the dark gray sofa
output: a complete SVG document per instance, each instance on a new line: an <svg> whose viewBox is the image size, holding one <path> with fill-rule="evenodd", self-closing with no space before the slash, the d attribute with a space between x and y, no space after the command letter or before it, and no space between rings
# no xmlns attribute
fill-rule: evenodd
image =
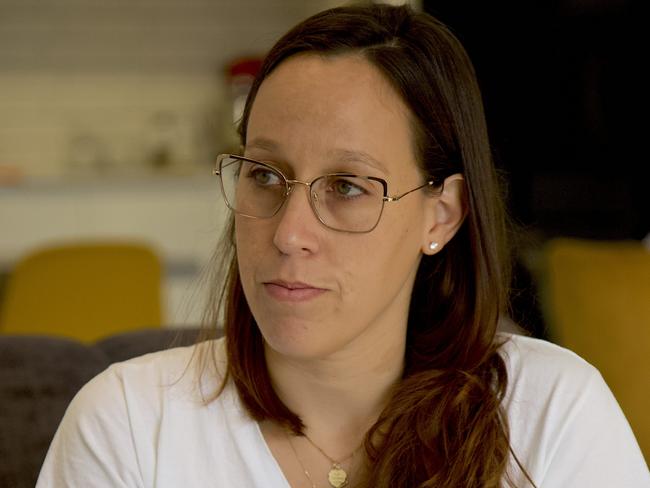
<svg viewBox="0 0 650 488"><path fill-rule="evenodd" d="M86 243L36 251L12 270L0 332L92 342L161 325L161 264L145 245Z"/></svg>

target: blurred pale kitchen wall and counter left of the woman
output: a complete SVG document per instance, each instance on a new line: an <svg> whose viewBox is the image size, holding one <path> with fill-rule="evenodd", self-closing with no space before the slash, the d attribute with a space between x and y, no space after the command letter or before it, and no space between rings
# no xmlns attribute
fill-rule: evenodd
<svg viewBox="0 0 650 488"><path fill-rule="evenodd" d="M196 324L250 74L340 3L0 0L0 291L37 249L137 241L163 262L163 322Z"/></svg>

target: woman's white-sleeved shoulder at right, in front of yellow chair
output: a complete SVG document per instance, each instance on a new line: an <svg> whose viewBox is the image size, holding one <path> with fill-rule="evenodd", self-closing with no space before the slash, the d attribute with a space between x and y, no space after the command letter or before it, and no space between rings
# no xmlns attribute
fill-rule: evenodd
<svg viewBox="0 0 650 488"><path fill-rule="evenodd" d="M511 446L538 486L646 486L634 434L595 367L547 341L498 340Z"/></svg>

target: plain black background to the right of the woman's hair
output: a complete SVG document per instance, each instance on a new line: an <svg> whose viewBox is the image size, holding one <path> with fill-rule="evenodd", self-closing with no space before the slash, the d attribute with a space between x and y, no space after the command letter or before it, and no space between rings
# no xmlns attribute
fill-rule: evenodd
<svg viewBox="0 0 650 488"><path fill-rule="evenodd" d="M513 315L540 337L553 338L538 296L545 286L540 255L549 240L639 243L650 232L642 176L647 124L639 123L647 101L640 63L647 30L640 24L640 5L423 2L456 33L474 62L494 159L518 226ZM638 286L645 287L650 303L646 272ZM647 315L641 322L650 327ZM648 382L650 388L650 371Z"/></svg>

